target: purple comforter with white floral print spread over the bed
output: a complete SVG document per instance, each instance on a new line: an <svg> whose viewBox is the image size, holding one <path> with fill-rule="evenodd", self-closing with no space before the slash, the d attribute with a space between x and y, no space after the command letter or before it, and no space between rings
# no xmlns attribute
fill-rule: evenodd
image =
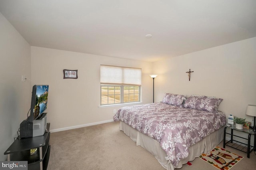
<svg viewBox="0 0 256 170"><path fill-rule="evenodd" d="M226 125L226 116L221 111L212 113L160 102L122 107L114 121L156 139L175 168L188 157L189 146Z"/></svg>

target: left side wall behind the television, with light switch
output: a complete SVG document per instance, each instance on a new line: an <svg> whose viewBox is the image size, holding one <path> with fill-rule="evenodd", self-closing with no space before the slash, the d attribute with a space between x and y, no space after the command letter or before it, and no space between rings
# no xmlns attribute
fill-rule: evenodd
<svg viewBox="0 0 256 170"><path fill-rule="evenodd" d="M0 160L30 109L30 45L0 13Z"/></svg>

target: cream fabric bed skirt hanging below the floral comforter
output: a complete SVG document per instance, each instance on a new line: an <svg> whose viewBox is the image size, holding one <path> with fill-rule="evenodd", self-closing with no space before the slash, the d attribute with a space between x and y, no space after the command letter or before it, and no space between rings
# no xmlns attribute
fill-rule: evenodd
<svg viewBox="0 0 256 170"><path fill-rule="evenodd" d="M150 152L164 168L167 170L174 170L172 163L169 160L166 160L167 155L164 150L162 150L159 142L147 136L146 134L143 134L138 130L130 127L122 121L120 121L119 129L122 130L127 136L130 136L130 138L136 142L137 146L142 146L142 148ZM206 136L204 140L201 140L193 146L190 146L188 148L190 154L187 158L180 160L176 168L182 168L182 164L186 164L188 161L194 160L202 153L208 153L214 149L223 140L223 132L224 127Z"/></svg>

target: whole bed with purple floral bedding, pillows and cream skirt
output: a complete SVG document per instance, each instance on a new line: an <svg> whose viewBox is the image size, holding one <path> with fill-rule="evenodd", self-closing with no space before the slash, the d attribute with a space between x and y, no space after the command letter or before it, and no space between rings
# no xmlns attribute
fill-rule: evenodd
<svg viewBox="0 0 256 170"><path fill-rule="evenodd" d="M159 103L122 107L114 115L120 130L153 154L168 170L207 153L223 140L222 99L165 93Z"/></svg>

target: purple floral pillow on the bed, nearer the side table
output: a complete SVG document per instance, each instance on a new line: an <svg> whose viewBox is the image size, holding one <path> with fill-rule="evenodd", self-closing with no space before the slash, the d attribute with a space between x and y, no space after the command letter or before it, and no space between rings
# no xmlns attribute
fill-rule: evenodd
<svg viewBox="0 0 256 170"><path fill-rule="evenodd" d="M192 95L185 101L184 107L216 113L222 100L215 97Z"/></svg>

